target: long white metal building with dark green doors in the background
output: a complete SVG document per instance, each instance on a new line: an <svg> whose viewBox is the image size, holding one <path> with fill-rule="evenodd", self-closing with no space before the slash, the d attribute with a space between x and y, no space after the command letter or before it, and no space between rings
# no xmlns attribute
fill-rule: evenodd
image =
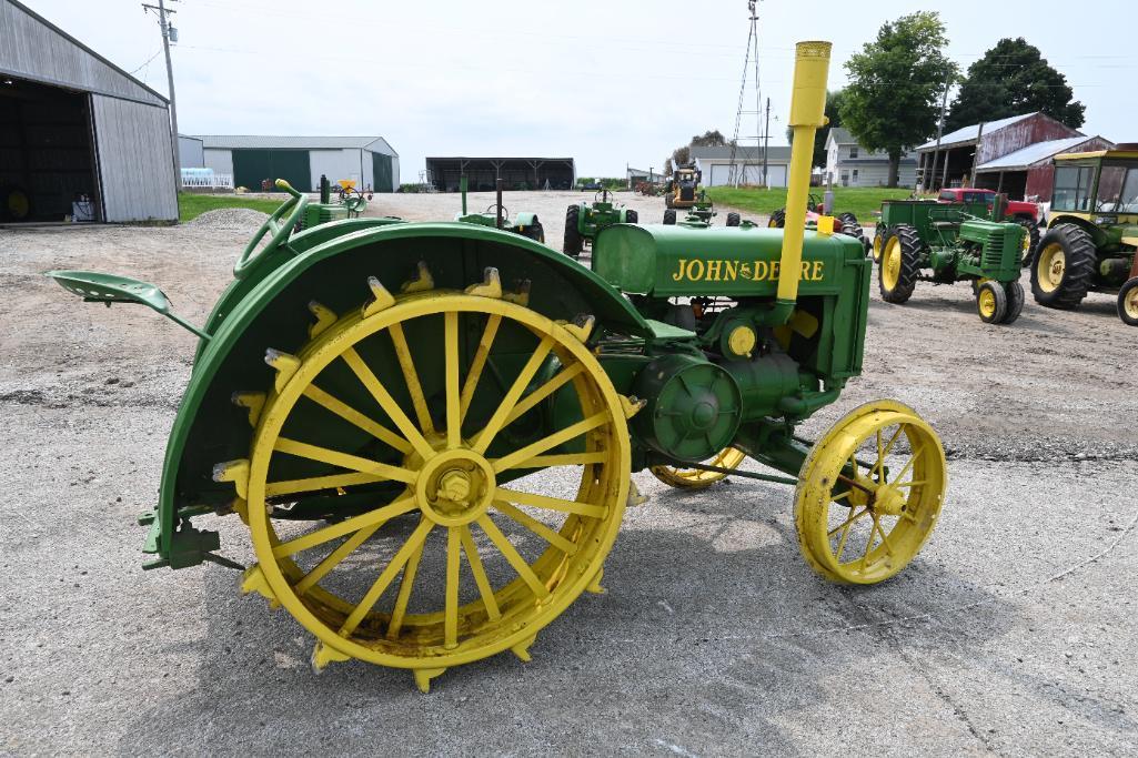
<svg viewBox="0 0 1138 758"><path fill-rule="evenodd" d="M259 190L269 179L284 179L302 192L320 188L323 174L361 189L399 189L399 154L382 137L200 135L205 167L233 176L234 187Z"/></svg>

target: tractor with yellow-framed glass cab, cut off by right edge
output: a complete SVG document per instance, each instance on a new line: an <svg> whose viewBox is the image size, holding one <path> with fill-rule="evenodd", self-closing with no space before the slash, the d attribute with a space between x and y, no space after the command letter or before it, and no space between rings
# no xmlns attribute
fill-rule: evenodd
<svg viewBox="0 0 1138 758"><path fill-rule="evenodd" d="M1047 233L1031 265L1031 293L1070 310L1087 293L1116 293L1119 318L1138 326L1138 146L1055 158Z"/></svg>

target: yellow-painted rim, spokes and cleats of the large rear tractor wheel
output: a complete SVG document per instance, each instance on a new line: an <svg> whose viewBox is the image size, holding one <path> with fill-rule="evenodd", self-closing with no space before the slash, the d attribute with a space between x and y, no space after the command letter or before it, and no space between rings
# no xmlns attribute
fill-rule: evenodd
<svg viewBox="0 0 1138 758"><path fill-rule="evenodd" d="M520 327L539 338L535 348L539 356L533 361L533 366L527 363L522 369L518 390L497 390L502 398L493 414L494 429L476 432L477 446L473 439L447 434L447 430L426 434L409 417L409 412L415 415L413 409L399 407L384 387L386 379L381 380L355 351L357 343L379 332L391 333L393 329L410 320L431 315L442 315L444 323L454 324L444 330L444 341L450 343L450 348L445 349L440 343L434 347L417 345L417 351L435 349L443 352L444 356L453 355L452 335L465 333L461 328L471 320L487 324L492 320L509 320L516 324L512 329ZM592 326L591 322L560 326L505 299L434 291L426 296L401 297L394 305L366 316L362 308L355 310L299 351L296 370L265 402L251 443L249 468L244 477L249 503L249 532L258 560L256 576L247 584L250 591L264 590L267 596L278 600L316 636L320 643L319 652L314 652L316 668L346 657L410 668L414 670L419 687L427 691L431 678L447 667L505 650L528 657L537 633L563 612L586 587L593 586L632 493L628 473L630 448L625 418L630 410L640 407L640 402L622 399L617 394L596 357L583 344ZM484 340L479 345L485 345L488 351L493 339L484 336ZM538 369L551 353L556 354L560 371L530 392ZM381 463L354 452L328 450L303 438L284 439L280 436L299 398L311 396L313 381L337 361L348 363L377 398L386 415L378 421L396 429L390 431L387 426L382 427L407 451L402 464ZM453 365L456 366L457 362ZM388 369L380 376L389 373ZM445 415L448 427L452 427L455 417L461 417L460 397L468 392L473 393L477 377L471 384L469 376L465 382L461 376L455 380L453 369L446 373L442 384L447 397L440 398L440 403L447 409ZM395 376L399 376L398 369L395 369ZM511 452L508 446L493 461L485 456L485 450L494 442L497 429L514 418L519 409L533 407L559 388L575 392L580 405L589 409L583 421L553 430L545 438L520 450ZM320 396L331 398L324 395L327 393ZM368 419L357 410L331 401L336 409L331 412L341 418L346 414L362 425L379 427L378 421ZM454 407L459 409L457 413ZM307 412L311 409L311 405L306 406ZM303 435L303 430L292 434ZM563 455L555 453L554 448L569 439L583 439L585 450ZM329 475L331 478L315 477L319 480L314 481L270 483L266 480L270 463L281 453L325 461L336 467L336 471ZM584 465L588 476L582 477L577 494L571 500L495 484L500 470L533 463ZM223 467L222 471L234 481L242 478L239 476L242 471L240 465ZM289 489L303 495L304 487L330 484L352 486L352 483L373 477L404 481L404 494L395 502L377 504L373 511L314 527L312 532L292 536L287 542L278 536L265 502L272 492ZM504 506L494 506L497 502L504 503ZM558 518L560 524L553 526L547 519L538 521L517 506L542 509ZM396 518L418 518L419 526L410 537L404 537L403 546L395 551L390 560L380 561L376 567L378 577L362 599L357 592L340 596L330 588L340 586L335 580L329 582L329 588L325 588L323 579L357 563L347 559L358 558L361 553L356 550L364 549L366 539L382 524ZM496 518L509 519L511 524L520 525L528 535L536 535L546 545L545 552L531 562L523 558L513 546L513 537L503 534L495 525ZM488 542L483 542L481 552L498 553L493 557L495 563L510 566L513 577L505 580L495 577L497 586L492 583L483 565L486 557L479 555L472 529L481 530L488 537ZM428 543L428 535L438 530L446 533L443 542ZM445 545L445 550L436 550L436 544ZM372 560L371 555L369 552L369 560ZM407 603L420 561L442 561L435 563L435 575L450 580L444 582L445 586L434 596L427 598L427 602L434 605L431 610L412 613ZM472 575L478 585L478 595L460 604L460 598L464 596L459 590L459 577L465 574L461 570L463 561L470 568L467 576ZM302 568L313 565L315 568ZM389 593L388 588L396 583L398 593ZM424 600L418 594L415 596L417 603ZM387 600L382 600L385 598Z"/></svg>

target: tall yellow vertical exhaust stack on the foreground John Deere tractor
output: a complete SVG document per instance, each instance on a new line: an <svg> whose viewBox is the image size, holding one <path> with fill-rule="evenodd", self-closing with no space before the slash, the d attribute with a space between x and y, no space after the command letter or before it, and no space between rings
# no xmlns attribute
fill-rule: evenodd
<svg viewBox="0 0 1138 758"><path fill-rule="evenodd" d="M830 42L799 42L795 46L794 89L790 99L790 127L794 131L794 141L790 153L786 223L778 264L777 310L784 320L790 319L798 300L806 201L810 192L810 164L815 135L818 127L826 124L826 77L830 73L832 47Z"/></svg>

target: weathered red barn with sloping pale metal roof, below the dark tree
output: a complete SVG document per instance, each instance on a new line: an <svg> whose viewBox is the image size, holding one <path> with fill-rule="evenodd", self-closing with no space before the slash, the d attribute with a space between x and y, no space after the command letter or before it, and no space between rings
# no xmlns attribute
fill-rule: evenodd
<svg viewBox="0 0 1138 758"><path fill-rule="evenodd" d="M1082 132L1039 112L971 124L942 134L939 143L929 140L917 147L917 175L926 190L967 187L984 164L1032 145L1074 137L1087 139Z"/></svg>

